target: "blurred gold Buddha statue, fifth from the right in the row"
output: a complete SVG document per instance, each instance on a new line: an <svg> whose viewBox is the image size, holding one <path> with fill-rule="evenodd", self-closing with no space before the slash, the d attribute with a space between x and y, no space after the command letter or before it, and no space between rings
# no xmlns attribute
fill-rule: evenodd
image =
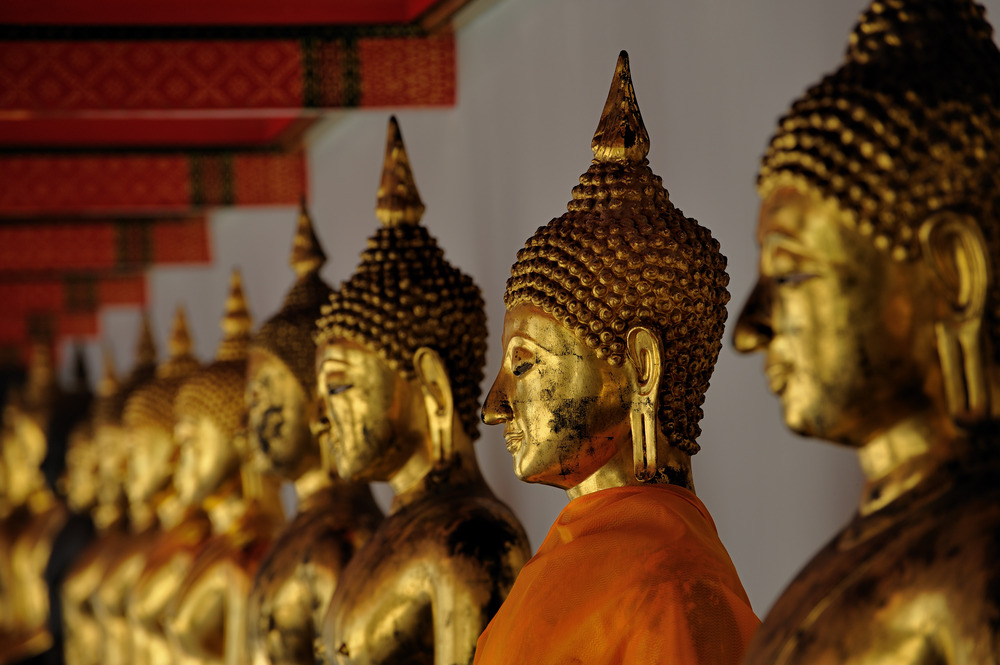
<svg viewBox="0 0 1000 665"><path fill-rule="evenodd" d="M166 610L174 662L247 661L253 577L284 517L278 483L263 476L242 425L250 314L234 272L215 361L181 386L175 402L181 506L202 506L212 538L195 555Z"/></svg>

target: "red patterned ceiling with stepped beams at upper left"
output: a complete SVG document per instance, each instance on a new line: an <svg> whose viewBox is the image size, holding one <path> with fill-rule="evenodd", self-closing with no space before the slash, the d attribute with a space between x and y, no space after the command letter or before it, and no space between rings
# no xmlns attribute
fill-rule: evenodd
<svg viewBox="0 0 1000 665"><path fill-rule="evenodd" d="M468 1L0 0L0 365L210 261L206 209L294 205L327 110L453 105Z"/></svg>

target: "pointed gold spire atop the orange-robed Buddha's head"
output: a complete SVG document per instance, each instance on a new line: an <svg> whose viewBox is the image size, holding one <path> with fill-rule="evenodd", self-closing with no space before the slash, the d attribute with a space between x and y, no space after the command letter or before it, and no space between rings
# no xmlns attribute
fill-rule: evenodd
<svg viewBox="0 0 1000 665"><path fill-rule="evenodd" d="M599 162L641 162L649 153L649 134L642 123L639 103L632 87L628 53L618 54L618 66L604 103L604 112L590 143L594 159Z"/></svg>

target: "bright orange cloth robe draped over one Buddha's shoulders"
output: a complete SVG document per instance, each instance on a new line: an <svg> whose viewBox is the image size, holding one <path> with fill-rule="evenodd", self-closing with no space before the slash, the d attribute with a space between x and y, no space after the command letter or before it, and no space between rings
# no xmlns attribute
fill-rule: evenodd
<svg viewBox="0 0 1000 665"><path fill-rule="evenodd" d="M735 665L759 623L698 497L617 487L566 506L475 663Z"/></svg>

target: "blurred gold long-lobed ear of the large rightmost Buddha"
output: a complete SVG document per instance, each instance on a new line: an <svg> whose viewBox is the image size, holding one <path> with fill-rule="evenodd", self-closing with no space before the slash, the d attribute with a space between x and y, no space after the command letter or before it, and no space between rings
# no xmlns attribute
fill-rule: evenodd
<svg viewBox="0 0 1000 665"><path fill-rule="evenodd" d="M958 423L976 422L990 412L982 334L992 270L986 241L971 216L942 212L921 225L920 246L941 297L935 334L948 410Z"/></svg>

